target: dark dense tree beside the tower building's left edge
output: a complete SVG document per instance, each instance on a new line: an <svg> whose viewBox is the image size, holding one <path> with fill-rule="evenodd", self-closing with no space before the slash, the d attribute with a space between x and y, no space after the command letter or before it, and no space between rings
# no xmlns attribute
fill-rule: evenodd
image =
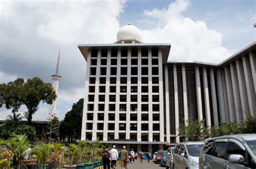
<svg viewBox="0 0 256 169"><path fill-rule="evenodd" d="M60 123L59 132L62 138L68 137L68 142L73 139L80 139L82 128L84 99L80 98L77 103L74 103L72 109L68 111Z"/></svg>

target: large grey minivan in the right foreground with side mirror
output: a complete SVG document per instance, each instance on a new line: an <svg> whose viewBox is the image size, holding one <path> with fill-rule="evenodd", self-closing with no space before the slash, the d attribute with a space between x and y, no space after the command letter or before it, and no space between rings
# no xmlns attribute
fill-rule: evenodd
<svg viewBox="0 0 256 169"><path fill-rule="evenodd" d="M199 168L256 168L256 134L206 139Z"/></svg>

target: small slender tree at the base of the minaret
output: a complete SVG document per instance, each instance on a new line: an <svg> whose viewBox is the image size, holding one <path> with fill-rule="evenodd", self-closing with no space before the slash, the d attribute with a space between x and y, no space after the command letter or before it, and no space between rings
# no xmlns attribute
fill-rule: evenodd
<svg viewBox="0 0 256 169"><path fill-rule="evenodd" d="M53 117L52 121L50 121L48 123L48 126L47 126L47 133L46 135L48 137L50 137L50 132L51 132L51 138L53 139L58 139L59 138L59 125L60 125L60 122L59 122L59 119L58 117Z"/></svg>

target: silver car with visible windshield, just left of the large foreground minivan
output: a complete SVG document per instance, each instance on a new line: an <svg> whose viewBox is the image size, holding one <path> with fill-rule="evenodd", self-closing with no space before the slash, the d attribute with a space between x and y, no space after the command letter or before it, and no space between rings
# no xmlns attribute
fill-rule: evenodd
<svg viewBox="0 0 256 169"><path fill-rule="evenodd" d="M204 142L183 142L176 144L173 153L172 168L198 168L201 147Z"/></svg>

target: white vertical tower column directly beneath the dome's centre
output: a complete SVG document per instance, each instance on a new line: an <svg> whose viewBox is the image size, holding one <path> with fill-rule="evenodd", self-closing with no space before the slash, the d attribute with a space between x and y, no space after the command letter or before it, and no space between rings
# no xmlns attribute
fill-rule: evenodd
<svg viewBox="0 0 256 169"><path fill-rule="evenodd" d="M127 54L127 91L126 91L126 139L130 139L130 114L131 114L131 50Z"/></svg>

